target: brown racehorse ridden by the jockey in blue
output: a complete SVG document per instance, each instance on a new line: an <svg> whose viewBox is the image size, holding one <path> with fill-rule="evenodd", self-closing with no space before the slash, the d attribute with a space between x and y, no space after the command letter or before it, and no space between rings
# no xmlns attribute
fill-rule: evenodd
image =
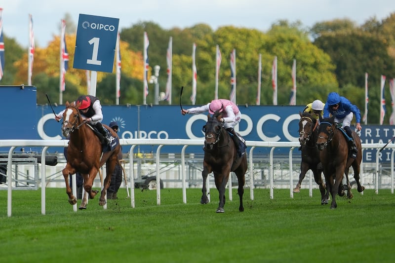
<svg viewBox="0 0 395 263"><path fill-rule="evenodd" d="M317 147L320 150L319 156L323 167L326 187L332 195L331 209L337 207L336 193L340 196L344 195L344 186L341 185L344 174L348 186L347 190L351 190L348 177L351 166L354 169L354 179L358 192L362 192L365 189L359 183L359 165L362 160L361 140L355 131L353 131L353 138L358 149L356 158L349 157L348 142L342 131L337 128L337 123L334 122L334 116L324 119L320 118Z"/></svg>

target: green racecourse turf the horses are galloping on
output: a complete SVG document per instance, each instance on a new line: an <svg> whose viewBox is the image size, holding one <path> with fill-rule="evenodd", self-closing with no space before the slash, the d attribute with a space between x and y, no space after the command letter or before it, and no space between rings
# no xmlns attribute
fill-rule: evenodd
<svg viewBox="0 0 395 263"><path fill-rule="evenodd" d="M389 189L353 189L354 198L337 196L338 208L320 204L319 191L290 198L289 189L249 189L238 212L237 189L225 213L211 202L199 203L201 190L135 190L131 208L121 188L107 210L98 197L77 212L65 189L13 190L7 217L7 191L0 191L1 262L394 262L395 195ZM228 198L228 192L226 193ZM79 201L80 203L80 201Z"/></svg>

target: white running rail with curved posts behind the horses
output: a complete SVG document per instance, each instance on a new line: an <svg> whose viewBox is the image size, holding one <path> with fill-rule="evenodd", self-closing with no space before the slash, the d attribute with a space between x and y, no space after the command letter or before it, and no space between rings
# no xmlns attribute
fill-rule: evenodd
<svg viewBox="0 0 395 263"><path fill-rule="evenodd" d="M159 161L160 161L160 150L162 146L166 145L176 145L176 146L183 146L181 150L181 176L182 176L182 195L183 195L183 202L187 202L186 197L186 171L185 171L185 150L188 146L202 146L203 140L189 140L189 139L121 139L121 145L123 146L130 146L129 150L129 182L130 182L130 200L131 200L131 207L135 207L135 197L134 197L134 160L133 160L133 150L138 145L151 145L151 146L158 146L156 151L156 170L157 175L160 174L159 172ZM17 147L43 147L41 152L41 214L45 215L45 186L46 186L46 169L45 169L45 156L46 151L50 147L67 147L68 140L0 140L0 147L10 147L8 151L8 161L7 161L7 170L9 171L7 174L7 215L8 217L11 216L12 210L12 153ZM253 177L253 154L254 149L257 147L266 147L271 148L270 155L269 155L269 184L270 184L270 198L274 198L273 190L274 190L274 150L276 148L289 148L289 174L292 175L292 151L293 149L300 146L298 142L256 142L256 141L246 141L247 147L249 147L249 168L247 174L249 174L249 184L246 187L250 188L250 198L254 199L254 177ZM362 150L364 149L376 149L376 176L375 176L375 191L378 193L379 190L379 150L384 146L384 144L362 144ZM394 154L395 154L395 145L390 144L387 146L387 149L392 149L391 153L391 192L394 193ZM363 174L362 170L362 163L361 163L361 171L360 174ZM73 183L76 185L75 182L75 175L72 177ZM289 186L290 186L290 197L293 197L292 187L293 187L293 176L289 176ZM157 186L160 185L160 177L157 176ZM361 178L363 180L363 177ZM363 184L363 181L361 182ZM310 179L310 188L311 188L311 179ZM231 187L231 184L229 184ZM73 191L76 191L74 188ZM76 193L73 193L76 195ZM232 191L229 191L230 200L232 200ZM160 187L157 187L157 204L160 205ZM106 208L106 207L105 207ZM77 205L73 206L73 210L77 211Z"/></svg>

